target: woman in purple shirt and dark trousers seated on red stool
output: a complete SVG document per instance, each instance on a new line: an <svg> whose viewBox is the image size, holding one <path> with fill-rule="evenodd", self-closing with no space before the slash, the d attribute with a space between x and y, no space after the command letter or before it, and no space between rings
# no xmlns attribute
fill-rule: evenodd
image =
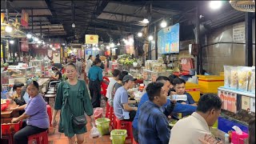
<svg viewBox="0 0 256 144"><path fill-rule="evenodd" d="M12 110L25 110L24 114L18 118L13 118L12 123L22 122L22 130L14 134L15 143L28 143L28 137L33 134L38 134L49 128L49 117L46 111L46 102L39 94L38 82L32 81L28 84L27 93L30 95L30 100L26 105L18 106Z"/></svg>

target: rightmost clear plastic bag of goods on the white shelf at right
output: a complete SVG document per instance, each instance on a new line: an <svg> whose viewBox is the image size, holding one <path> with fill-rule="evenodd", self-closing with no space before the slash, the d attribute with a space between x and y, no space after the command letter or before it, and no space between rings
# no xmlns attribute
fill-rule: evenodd
<svg viewBox="0 0 256 144"><path fill-rule="evenodd" d="M251 67L241 66L238 69L238 90L247 91L249 79L251 77Z"/></svg>

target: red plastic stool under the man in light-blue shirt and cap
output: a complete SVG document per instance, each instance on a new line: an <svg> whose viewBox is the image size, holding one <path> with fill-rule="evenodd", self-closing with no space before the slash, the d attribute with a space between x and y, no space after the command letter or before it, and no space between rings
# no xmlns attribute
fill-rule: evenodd
<svg viewBox="0 0 256 144"><path fill-rule="evenodd" d="M133 136L133 128L132 128L132 122L129 121L123 121L118 118L115 118L115 121L117 122L116 124L116 129L121 129L121 130L127 130L127 137L130 138L131 140L134 138Z"/></svg>

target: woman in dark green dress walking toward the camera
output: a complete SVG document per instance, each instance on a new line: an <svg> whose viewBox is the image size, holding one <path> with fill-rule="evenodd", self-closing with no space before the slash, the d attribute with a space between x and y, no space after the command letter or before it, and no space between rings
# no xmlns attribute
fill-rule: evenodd
<svg viewBox="0 0 256 144"><path fill-rule="evenodd" d="M95 126L94 110L90 102L86 82L77 78L77 70L73 63L66 65L66 76L68 79L60 82L58 86L52 125L57 125L55 117L58 110L61 110L58 131L68 137L70 144L75 142L74 134L76 134L78 144L80 144L84 140L84 134L87 131L86 126L82 129L74 127L70 115L73 113L77 117L86 113L90 116L92 125Z"/></svg>

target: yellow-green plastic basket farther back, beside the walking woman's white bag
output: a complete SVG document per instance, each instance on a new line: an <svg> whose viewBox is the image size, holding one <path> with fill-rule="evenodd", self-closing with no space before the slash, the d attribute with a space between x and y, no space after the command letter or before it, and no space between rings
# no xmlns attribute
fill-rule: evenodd
<svg viewBox="0 0 256 144"><path fill-rule="evenodd" d="M96 126L101 135L109 134L110 119L109 118L98 118L96 119Z"/></svg>

